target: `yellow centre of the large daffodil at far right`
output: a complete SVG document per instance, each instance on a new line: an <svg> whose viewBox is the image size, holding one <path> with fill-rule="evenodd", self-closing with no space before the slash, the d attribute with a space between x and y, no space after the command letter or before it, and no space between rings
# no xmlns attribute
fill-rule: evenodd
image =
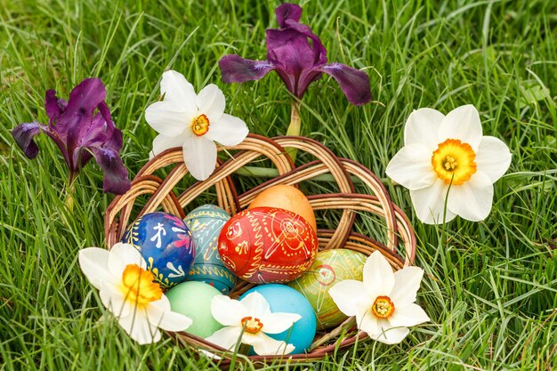
<svg viewBox="0 0 557 371"><path fill-rule="evenodd" d="M448 139L433 152L432 165L437 176L446 184L461 185L476 173L476 154L468 143Z"/></svg>

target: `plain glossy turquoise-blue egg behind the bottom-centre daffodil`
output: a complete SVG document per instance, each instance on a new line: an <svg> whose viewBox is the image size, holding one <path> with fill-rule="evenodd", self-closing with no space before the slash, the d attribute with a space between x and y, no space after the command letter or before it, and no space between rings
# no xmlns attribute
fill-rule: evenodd
<svg viewBox="0 0 557 371"><path fill-rule="evenodd" d="M262 294L269 302L271 312L297 313L302 318L298 319L291 329L280 334L268 334L273 339L282 340L295 346L292 354L300 354L310 348L315 332L317 320L311 303L298 293L294 288L278 284L255 286L240 296L241 301L247 294L254 291ZM264 325L263 325L264 326Z"/></svg>

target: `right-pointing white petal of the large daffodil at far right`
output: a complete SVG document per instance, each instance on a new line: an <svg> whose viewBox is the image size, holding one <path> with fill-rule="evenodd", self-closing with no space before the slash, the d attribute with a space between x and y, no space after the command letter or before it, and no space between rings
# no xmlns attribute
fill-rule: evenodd
<svg viewBox="0 0 557 371"><path fill-rule="evenodd" d="M491 182L495 183L508 170L512 157L504 141L493 136L484 136L476 153L476 165L480 172L486 173Z"/></svg>

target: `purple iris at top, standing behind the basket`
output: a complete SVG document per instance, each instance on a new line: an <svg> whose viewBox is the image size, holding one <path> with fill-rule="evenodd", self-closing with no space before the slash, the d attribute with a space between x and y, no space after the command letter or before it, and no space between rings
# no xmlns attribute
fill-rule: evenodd
<svg viewBox="0 0 557 371"><path fill-rule="evenodd" d="M259 80L274 70L290 93L301 99L308 86L326 73L335 78L352 104L361 105L371 100L369 77L365 72L341 63L327 64L327 49L310 27L300 23L300 6L282 4L275 13L280 28L267 29L267 60L226 55L219 60L223 82Z"/></svg>

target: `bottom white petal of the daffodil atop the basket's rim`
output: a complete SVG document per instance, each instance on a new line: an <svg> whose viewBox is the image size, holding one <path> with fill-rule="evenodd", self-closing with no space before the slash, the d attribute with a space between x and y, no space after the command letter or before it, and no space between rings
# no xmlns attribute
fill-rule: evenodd
<svg viewBox="0 0 557 371"><path fill-rule="evenodd" d="M191 175L205 181L216 165L216 146L213 141L192 135L183 143L183 159Z"/></svg>

